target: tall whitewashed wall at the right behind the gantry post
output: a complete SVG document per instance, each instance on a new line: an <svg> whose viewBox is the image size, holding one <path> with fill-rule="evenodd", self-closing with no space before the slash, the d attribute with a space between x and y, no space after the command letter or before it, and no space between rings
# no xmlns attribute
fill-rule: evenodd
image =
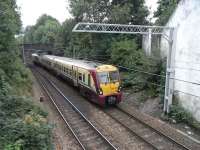
<svg viewBox="0 0 200 150"><path fill-rule="evenodd" d="M178 27L175 55L175 78L198 83L175 80L175 90L180 104L200 121L200 0L182 0L167 26ZM161 41L162 55L168 45ZM198 96L195 97L194 95Z"/></svg>

